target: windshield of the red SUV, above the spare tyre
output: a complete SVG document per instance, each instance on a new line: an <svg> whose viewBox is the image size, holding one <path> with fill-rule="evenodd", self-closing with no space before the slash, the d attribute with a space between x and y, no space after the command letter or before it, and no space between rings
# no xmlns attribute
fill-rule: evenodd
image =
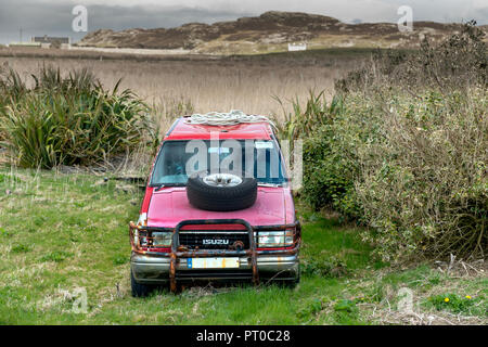
<svg viewBox="0 0 488 347"><path fill-rule="evenodd" d="M231 172L259 183L287 181L277 142L266 140L167 141L157 156L151 185L184 185L195 172Z"/></svg>

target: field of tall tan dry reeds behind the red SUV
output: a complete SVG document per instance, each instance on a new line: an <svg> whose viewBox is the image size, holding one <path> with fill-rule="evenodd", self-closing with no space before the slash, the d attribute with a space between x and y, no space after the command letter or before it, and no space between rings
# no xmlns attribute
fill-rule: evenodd
<svg viewBox="0 0 488 347"><path fill-rule="evenodd" d="M332 94L334 79L343 77L370 56L370 51L325 50L306 54L262 54L257 56L143 56L118 54L108 59L65 50L49 50L47 56L1 55L0 65L9 65L30 79L43 64L59 67L62 74L73 68L88 68L105 89L112 89L120 77L120 90L130 89L150 105L167 107L175 100L191 99L198 113L243 110L253 114L281 115L279 103L298 95L306 100L309 89L328 89ZM341 51L343 52L343 51ZM50 55L49 55L50 54ZM156 108L156 107L153 107Z"/></svg>

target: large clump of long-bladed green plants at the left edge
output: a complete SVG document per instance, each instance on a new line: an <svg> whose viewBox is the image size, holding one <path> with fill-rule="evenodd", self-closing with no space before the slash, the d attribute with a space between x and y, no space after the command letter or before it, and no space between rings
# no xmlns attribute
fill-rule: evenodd
<svg viewBox="0 0 488 347"><path fill-rule="evenodd" d="M146 140L146 106L130 90L118 92L118 83L105 91L87 70L62 78L42 68L27 90L14 72L9 76L0 83L9 95L0 138L23 167L92 164Z"/></svg>

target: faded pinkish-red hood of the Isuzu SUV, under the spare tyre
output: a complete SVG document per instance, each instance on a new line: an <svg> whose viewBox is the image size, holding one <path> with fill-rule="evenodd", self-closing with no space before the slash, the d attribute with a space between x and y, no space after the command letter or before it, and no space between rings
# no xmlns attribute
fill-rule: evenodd
<svg viewBox="0 0 488 347"><path fill-rule="evenodd" d="M244 219L252 226L285 224L293 222L286 221L286 208L294 208L286 206L285 193L283 188L259 187L253 206L235 211L209 211L190 205L185 188L164 188L153 192L147 226L175 228L189 219Z"/></svg>

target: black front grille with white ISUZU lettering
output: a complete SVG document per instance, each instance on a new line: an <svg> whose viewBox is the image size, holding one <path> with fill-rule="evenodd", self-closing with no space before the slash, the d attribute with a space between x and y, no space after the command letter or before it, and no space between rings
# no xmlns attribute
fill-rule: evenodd
<svg viewBox="0 0 488 347"><path fill-rule="evenodd" d="M249 249L249 234L245 231L180 231L179 245L193 249Z"/></svg>

